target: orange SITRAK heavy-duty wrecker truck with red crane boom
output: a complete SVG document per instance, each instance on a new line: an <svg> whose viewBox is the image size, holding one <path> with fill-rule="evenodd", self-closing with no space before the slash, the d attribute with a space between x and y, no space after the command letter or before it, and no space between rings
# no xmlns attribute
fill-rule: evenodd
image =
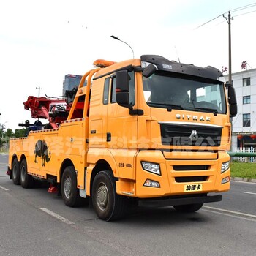
<svg viewBox="0 0 256 256"><path fill-rule="evenodd" d="M107 221L131 202L192 212L222 200L219 193L230 189L230 117L237 113L222 72L156 55L94 66L72 102L24 102L49 124L10 140L14 184L47 181L71 207L89 197Z"/></svg>

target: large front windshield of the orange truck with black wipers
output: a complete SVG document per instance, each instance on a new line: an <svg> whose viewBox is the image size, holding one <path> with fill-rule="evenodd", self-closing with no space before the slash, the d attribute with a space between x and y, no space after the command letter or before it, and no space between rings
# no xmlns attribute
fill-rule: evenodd
<svg viewBox="0 0 256 256"><path fill-rule="evenodd" d="M143 77L143 91L146 103L154 108L226 113L225 89L217 80L158 71Z"/></svg>

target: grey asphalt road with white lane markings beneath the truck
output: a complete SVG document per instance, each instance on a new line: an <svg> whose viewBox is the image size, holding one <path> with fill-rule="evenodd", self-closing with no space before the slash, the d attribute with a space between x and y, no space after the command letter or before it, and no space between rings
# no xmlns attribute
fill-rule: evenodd
<svg viewBox="0 0 256 256"><path fill-rule="evenodd" d="M0 154L0 255L256 255L256 184L232 181L197 213L138 208L117 222L12 184Z"/></svg>

